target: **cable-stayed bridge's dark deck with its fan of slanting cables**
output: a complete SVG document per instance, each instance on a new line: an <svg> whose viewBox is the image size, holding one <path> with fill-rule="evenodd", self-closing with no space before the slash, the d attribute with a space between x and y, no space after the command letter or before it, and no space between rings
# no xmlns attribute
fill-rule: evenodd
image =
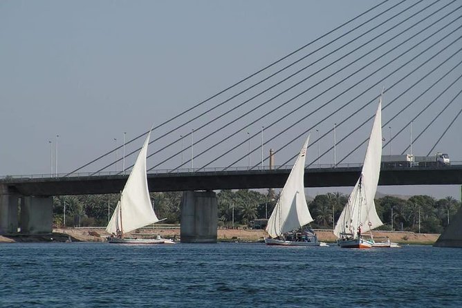
<svg viewBox="0 0 462 308"><path fill-rule="evenodd" d="M374 3L154 124L147 162L151 191L281 187L308 134L306 186L353 185L380 93L383 154L438 151L448 153L452 164L389 167L382 169L379 184L461 184L461 168L454 163L462 160L457 156L461 12L462 3L450 0ZM2 204L19 195L120 191L146 135L124 140L67 173L53 173L51 164L48 176L6 177ZM276 160L272 170L270 148ZM48 211L50 198L26 204Z"/></svg>

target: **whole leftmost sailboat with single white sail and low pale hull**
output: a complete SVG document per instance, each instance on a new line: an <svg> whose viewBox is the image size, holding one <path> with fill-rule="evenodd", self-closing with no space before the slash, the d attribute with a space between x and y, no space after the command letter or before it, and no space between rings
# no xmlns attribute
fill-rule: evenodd
<svg viewBox="0 0 462 308"><path fill-rule="evenodd" d="M127 182L125 183L120 200L107 225L106 231L111 234L110 243L117 244L173 244L165 238L126 238L125 233L158 222L156 213L152 209L151 198L147 186L146 155L151 131L147 134L138 158Z"/></svg>

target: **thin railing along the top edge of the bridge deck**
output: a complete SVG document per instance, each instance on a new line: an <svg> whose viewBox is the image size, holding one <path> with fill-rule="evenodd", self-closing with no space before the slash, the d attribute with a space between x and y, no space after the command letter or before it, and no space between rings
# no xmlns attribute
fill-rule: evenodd
<svg viewBox="0 0 462 308"><path fill-rule="evenodd" d="M462 162L451 162L450 166L454 165L462 165ZM274 166L272 170L290 170L292 169L293 165L281 165L281 166ZM335 167L336 169L342 169L342 168L358 168L361 167L362 163L345 163L345 164L337 164ZM429 165L429 166L418 166L418 165L412 165L412 166L404 166L402 164L387 164L388 168L428 168L428 167L435 167L434 164ZM446 166L436 166L438 168L445 168ZM333 169L334 165L333 164L311 164L309 166L306 166L307 169ZM231 167L228 169L224 169L224 167L214 167L214 168L204 168L204 169L190 169L190 168L185 168L185 169L157 169L153 171L149 171L149 175L165 175L165 174L187 174L187 173L223 173L227 171L251 171L251 172L258 172L258 171L269 171L271 170L269 166L258 166L256 168L251 168L249 169L247 166L237 166L237 167ZM125 175L128 175L130 173L129 170L125 171ZM0 180L8 180L8 179L51 179L51 178L56 178L56 177L90 177L90 176L115 176L115 175L120 175L121 177L124 176L123 171L102 171L98 173L94 172L81 172L81 173L72 173L71 175L68 175L68 173L59 173L59 174L50 174L50 173L44 173L44 174L29 174L29 175L3 175L0 176Z"/></svg>

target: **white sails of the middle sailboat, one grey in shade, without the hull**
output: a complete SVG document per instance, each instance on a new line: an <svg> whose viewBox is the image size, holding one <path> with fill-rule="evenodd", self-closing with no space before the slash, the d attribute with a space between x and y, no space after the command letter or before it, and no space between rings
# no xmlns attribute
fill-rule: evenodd
<svg viewBox="0 0 462 308"><path fill-rule="evenodd" d="M306 147L309 139L308 135L268 220L266 231L272 238L313 221L306 204L304 188Z"/></svg>

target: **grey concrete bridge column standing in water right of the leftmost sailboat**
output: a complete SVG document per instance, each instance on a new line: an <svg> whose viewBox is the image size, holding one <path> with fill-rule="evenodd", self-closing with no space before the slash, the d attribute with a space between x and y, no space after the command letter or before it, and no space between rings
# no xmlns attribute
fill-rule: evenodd
<svg viewBox="0 0 462 308"><path fill-rule="evenodd" d="M183 243L216 243L218 205L213 191L185 191L181 200Z"/></svg>

